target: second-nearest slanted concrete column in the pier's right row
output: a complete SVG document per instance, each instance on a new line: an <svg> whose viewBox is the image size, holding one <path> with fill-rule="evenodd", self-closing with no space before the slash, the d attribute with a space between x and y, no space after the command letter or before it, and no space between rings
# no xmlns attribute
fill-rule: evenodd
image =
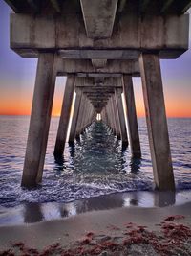
<svg viewBox="0 0 191 256"><path fill-rule="evenodd" d="M133 81L131 76L123 76L123 93L126 104L127 124L129 130L129 140L132 156L141 157L140 141L138 135L138 119L136 113L136 104L134 97Z"/></svg>

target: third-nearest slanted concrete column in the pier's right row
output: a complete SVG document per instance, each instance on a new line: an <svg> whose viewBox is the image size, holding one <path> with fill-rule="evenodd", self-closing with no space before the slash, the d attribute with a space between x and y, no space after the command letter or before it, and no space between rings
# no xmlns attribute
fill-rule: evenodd
<svg viewBox="0 0 191 256"><path fill-rule="evenodd" d="M120 124L120 134L122 139L122 145L128 146L128 137L127 137L127 129L125 125L125 117L124 117L124 109L122 105L122 97L121 97L122 89L116 88L115 95L117 101L117 113L118 113L118 120Z"/></svg>

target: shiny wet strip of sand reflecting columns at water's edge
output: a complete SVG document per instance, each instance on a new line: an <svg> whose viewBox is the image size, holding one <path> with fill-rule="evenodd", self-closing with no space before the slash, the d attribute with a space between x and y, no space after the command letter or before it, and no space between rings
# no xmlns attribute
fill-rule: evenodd
<svg viewBox="0 0 191 256"><path fill-rule="evenodd" d="M186 195L186 196L185 196ZM3 219L0 214L1 224L33 223L50 221L60 218L69 218L85 212L109 210L120 207L165 207L175 203L184 203L185 198L190 199L189 192L128 192L113 195L99 196L96 198L75 200L69 203L25 203L20 206L20 211L15 211L15 217ZM177 200L177 201L176 201ZM18 218L19 216L19 218ZM5 216L4 216L5 217ZM15 223L15 221L17 221Z"/></svg>

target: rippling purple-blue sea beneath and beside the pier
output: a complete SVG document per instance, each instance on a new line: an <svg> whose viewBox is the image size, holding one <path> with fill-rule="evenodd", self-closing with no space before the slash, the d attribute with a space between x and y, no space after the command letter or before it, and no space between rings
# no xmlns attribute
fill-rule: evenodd
<svg viewBox="0 0 191 256"><path fill-rule="evenodd" d="M138 119L141 159L102 122L87 128L74 148L66 144L64 157L56 161L53 149L59 119L53 118L42 184L20 187L29 117L0 116L0 205L24 202L69 202L117 192L152 191L153 172L145 119ZM191 189L191 119L168 119L177 190Z"/></svg>

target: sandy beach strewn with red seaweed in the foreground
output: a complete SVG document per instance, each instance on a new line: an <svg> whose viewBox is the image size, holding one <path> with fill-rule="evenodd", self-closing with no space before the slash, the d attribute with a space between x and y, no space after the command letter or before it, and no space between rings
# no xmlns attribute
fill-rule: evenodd
<svg viewBox="0 0 191 256"><path fill-rule="evenodd" d="M0 227L0 255L191 255L191 202Z"/></svg>

